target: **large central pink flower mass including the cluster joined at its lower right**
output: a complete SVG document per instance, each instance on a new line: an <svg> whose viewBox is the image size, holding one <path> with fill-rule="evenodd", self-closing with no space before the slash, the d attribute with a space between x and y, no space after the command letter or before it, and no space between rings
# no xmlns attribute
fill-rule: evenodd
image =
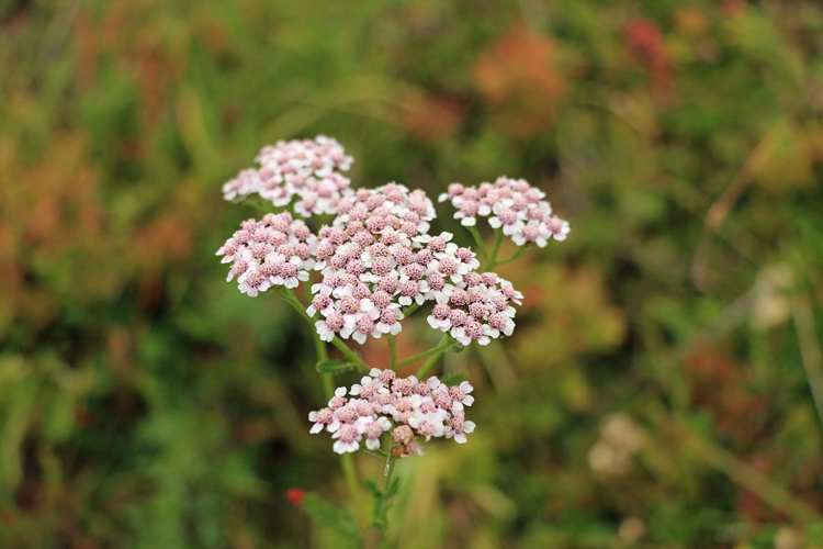
<svg viewBox="0 0 823 549"><path fill-rule="evenodd" d="M315 269L324 278L307 310L323 316L315 324L322 339L396 335L404 307L426 301L438 303L429 324L462 345L511 334L509 301L519 294L495 273L477 273L475 254L451 234L427 234L435 209L426 193L395 183L360 189L338 212L319 232Z"/></svg>

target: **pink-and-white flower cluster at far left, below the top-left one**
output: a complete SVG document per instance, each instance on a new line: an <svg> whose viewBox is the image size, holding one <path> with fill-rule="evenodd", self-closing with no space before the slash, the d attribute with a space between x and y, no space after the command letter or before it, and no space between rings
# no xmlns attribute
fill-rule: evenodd
<svg viewBox="0 0 823 549"><path fill-rule="evenodd" d="M272 285L296 288L308 280L316 248L317 237L306 224L283 212L243 222L217 255L232 264L226 281L237 277L240 292L255 298Z"/></svg>

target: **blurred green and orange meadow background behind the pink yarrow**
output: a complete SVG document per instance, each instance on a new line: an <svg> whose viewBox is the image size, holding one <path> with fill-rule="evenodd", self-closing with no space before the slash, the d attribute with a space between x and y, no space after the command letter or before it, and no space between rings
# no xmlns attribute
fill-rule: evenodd
<svg viewBox="0 0 823 549"><path fill-rule="evenodd" d="M799 0L0 0L0 547L346 547L284 495L346 505L311 334L214 256L259 215L221 184L320 133L356 186L523 177L573 228L499 269L514 337L448 356L478 427L398 464L397 547L823 547L822 33Z"/></svg>

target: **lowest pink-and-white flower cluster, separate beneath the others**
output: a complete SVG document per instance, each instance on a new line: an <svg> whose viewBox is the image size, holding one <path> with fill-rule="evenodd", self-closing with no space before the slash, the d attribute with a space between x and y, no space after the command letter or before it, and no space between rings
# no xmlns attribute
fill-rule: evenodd
<svg viewBox="0 0 823 549"><path fill-rule="evenodd" d="M471 406L472 385L463 381L448 386L431 377L421 383L414 376L397 378L392 370L373 368L369 376L348 391L338 388L328 407L308 414L311 433L324 428L335 438L337 453L354 452L361 445L380 448L383 433L391 432L392 455L402 458L424 455L418 441L431 437L454 438L464 444L474 422L466 421L464 406Z"/></svg>

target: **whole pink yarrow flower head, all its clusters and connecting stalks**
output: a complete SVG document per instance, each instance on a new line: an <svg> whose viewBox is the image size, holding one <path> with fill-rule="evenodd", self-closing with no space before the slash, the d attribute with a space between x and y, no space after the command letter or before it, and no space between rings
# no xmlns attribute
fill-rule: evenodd
<svg viewBox="0 0 823 549"><path fill-rule="evenodd" d="M495 272L484 272L481 260L494 267L516 259L529 245L543 247L568 233L568 223L552 214L543 192L522 179L501 177L477 188L452 183L440 201L458 209L454 216L470 227L478 257L452 242L450 233L429 234L436 212L424 191L397 183L351 189L340 172L352 158L332 138L279 142L263 147L257 161L259 168L241 171L223 187L224 197L240 201L258 194L279 213L243 222L217 250L223 262L230 264L227 280L236 279L240 292L251 298L281 287L279 295L314 324L318 338L332 343L347 366L362 371L369 367L342 340L363 344L385 335L391 365L428 358L418 371L422 377L454 344L487 345L511 335L514 305L522 294ZM330 222L318 226L319 221L311 220L315 215L331 216ZM495 231L491 254L474 228L477 215L488 217ZM505 236L521 248L498 260ZM306 305L291 289L312 279L304 313ZM394 336L401 322L427 302L428 324L443 333L441 343L398 361ZM327 355L319 343L322 356ZM312 412L312 433L331 433L338 453L361 445L376 450L384 433L391 433L395 457L422 453L418 442L431 437L465 442L474 429L463 413L474 400L471 391L467 382L447 386L433 377L421 382L414 376L399 379L391 369L372 369L348 394L339 388L328 407Z"/></svg>

